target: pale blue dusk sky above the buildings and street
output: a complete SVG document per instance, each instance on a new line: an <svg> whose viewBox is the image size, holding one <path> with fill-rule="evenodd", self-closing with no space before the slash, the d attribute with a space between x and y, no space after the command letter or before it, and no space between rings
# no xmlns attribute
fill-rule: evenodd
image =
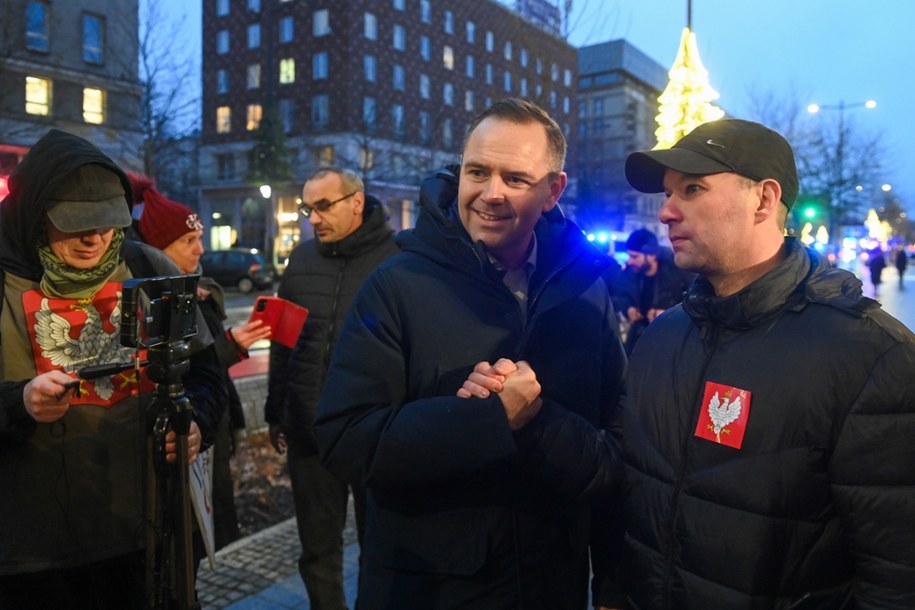
<svg viewBox="0 0 915 610"><path fill-rule="evenodd" d="M200 0L159 0L169 18L184 17L188 38L200 37ZM389 0L378 0L388 2ZM437 0L447 3L458 0ZM513 0L505 0L513 5ZM669 68L686 25L686 0L573 0L575 46L625 38ZM479 23L485 23L481 15ZM699 53L718 100L731 116L747 116L754 92L821 105L846 104L845 119L885 137L887 167L877 183L893 185L903 205L915 202L915 24L912 0L693 0ZM851 108L868 99L877 108ZM836 124L837 111L804 120Z"/></svg>

